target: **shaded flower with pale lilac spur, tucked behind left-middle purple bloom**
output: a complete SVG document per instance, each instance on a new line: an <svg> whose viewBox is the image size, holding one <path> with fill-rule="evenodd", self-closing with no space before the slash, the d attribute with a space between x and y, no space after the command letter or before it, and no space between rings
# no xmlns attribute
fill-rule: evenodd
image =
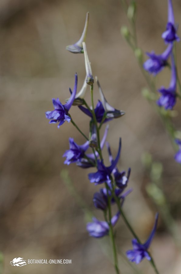
<svg viewBox="0 0 181 274"><path fill-rule="evenodd" d="M109 126L107 125L105 128L101 143L100 143L101 150L104 147L104 144L105 144L105 141L106 141L106 138L108 135L108 129L109 129ZM86 158L81 158L81 159L77 160L76 164L77 164L77 166L82 167L82 168L94 167L96 165L95 156L97 158L99 156L97 151L95 152L95 155L94 155L94 153L85 154Z"/></svg>

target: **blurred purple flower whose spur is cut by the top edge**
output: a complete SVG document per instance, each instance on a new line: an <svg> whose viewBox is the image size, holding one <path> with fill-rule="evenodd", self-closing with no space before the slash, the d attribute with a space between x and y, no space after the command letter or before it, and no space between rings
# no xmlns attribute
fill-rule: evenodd
<svg viewBox="0 0 181 274"><path fill-rule="evenodd" d="M172 43L173 41L180 41L180 38L176 34L175 19L173 14L172 0L168 0L168 23L166 25L166 31L162 33L162 38L165 40L165 43Z"/></svg>

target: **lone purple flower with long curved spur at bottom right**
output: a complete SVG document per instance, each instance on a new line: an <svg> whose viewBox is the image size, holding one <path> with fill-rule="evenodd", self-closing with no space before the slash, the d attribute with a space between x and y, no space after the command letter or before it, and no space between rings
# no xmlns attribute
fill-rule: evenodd
<svg viewBox="0 0 181 274"><path fill-rule="evenodd" d="M149 249L149 246L152 242L153 236L156 231L156 227L157 227L157 223L158 223L158 216L159 216L159 214L156 213L154 227L152 229L152 232L151 232L148 240L144 244L138 243L138 241L136 239L132 240L133 249L128 250L126 252L126 255L127 255L129 261L139 264L142 261L142 259L144 259L144 258L147 258L147 260L149 260L149 261L151 260L148 249Z"/></svg>

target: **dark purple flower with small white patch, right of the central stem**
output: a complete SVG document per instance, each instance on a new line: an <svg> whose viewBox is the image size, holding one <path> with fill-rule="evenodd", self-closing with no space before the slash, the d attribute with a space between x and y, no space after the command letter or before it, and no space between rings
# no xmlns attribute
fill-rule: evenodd
<svg viewBox="0 0 181 274"><path fill-rule="evenodd" d="M107 146L107 149L108 149L109 161L110 161L110 163L112 163L113 158L112 158L111 148L110 148L108 142L106 143L106 146ZM131 173L131 168L128 168L127 175L126 175L125 171L119 172L117 167L115 167L113 169L112 173L114 175L114 181L115 181L117 187L119 189L121 189L121 191L123 191L127 187L129 176L130 176L130 173Z"/></svg>

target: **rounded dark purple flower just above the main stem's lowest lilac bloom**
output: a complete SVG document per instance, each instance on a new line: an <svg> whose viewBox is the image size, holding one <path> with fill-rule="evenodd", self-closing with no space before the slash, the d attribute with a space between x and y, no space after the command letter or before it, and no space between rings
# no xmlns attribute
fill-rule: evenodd
<svg viewBox="0 0 181 274"><path fill-rule="evenodd" d="M122 201L122 203L125 200L125 197L132 191L130 188L128 191L126 191L124 194L122 194L122 190L119 188L114 189L115 196ZM94 206L97 209L105 210L108 206L108 195L112 196L111 191L106 188L101 188L99 192L95 192L93 196L93 203ZM111 204L114 204L116 201L114 197L111 198Z"/></svg>

